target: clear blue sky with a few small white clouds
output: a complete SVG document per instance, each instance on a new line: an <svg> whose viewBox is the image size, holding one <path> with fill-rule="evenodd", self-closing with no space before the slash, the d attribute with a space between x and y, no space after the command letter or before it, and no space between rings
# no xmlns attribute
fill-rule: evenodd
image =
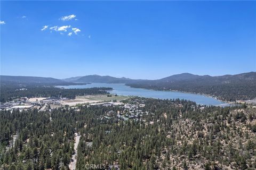
<svg viewBox="0 0 256 170"><path fill-rule="evenodd" d="M2 75L256 71L256 2L1 1L0 27Z"/></svg>

